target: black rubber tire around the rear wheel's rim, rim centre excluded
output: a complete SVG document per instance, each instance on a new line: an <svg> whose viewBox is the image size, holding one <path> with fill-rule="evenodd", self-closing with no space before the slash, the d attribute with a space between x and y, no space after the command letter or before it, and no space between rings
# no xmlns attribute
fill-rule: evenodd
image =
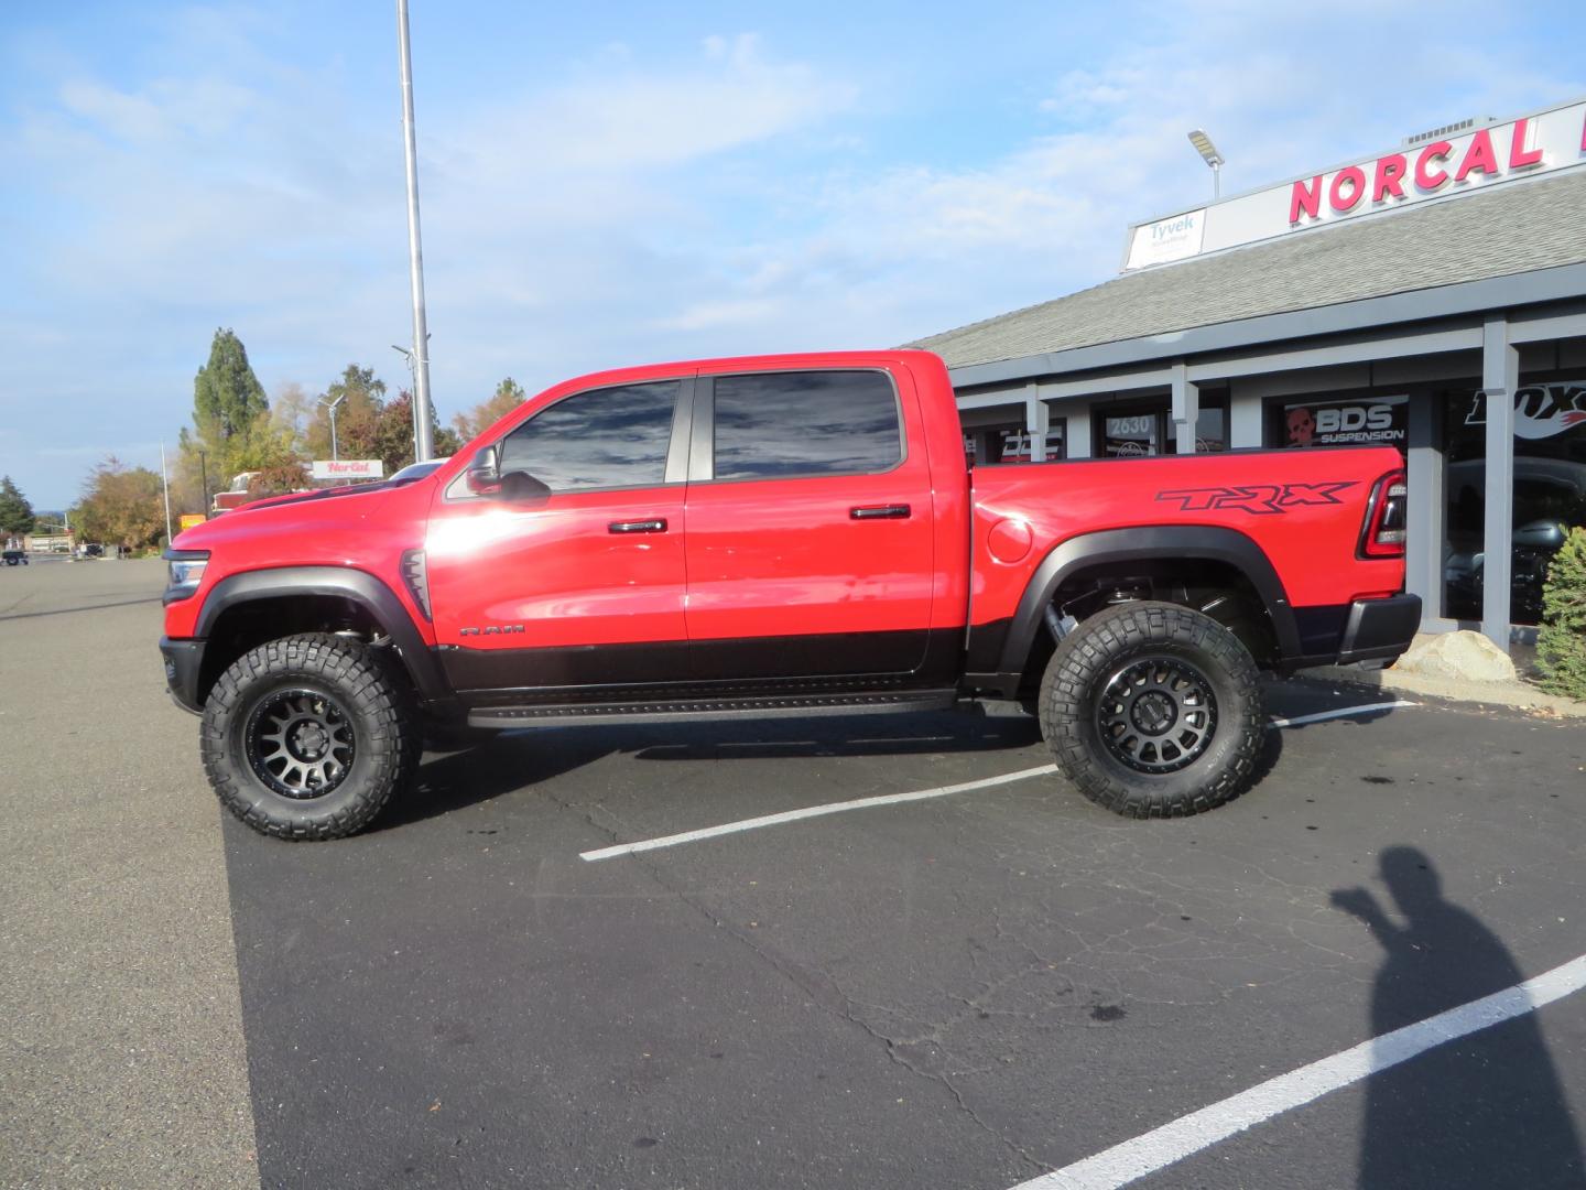
<svg viewBox="0 0 1586 1190"><path fill-rule="evenodd" d="M1102 736L1104 716L1115 725L1124 719L1117 700L1102 704L1109 685L1153 658L1199 676L1210 695L1210 738L1196 754L1180 752L1183 766L1174 771L1139 771L1121 758L1128 747ZM1183 817L1231 801L1250 785L1261 750L1255 660L1216 620L1174 603L1124 603L1082 622L1047 663L1039 709L1058 771L1091 801L1134 819Z"/></svg>

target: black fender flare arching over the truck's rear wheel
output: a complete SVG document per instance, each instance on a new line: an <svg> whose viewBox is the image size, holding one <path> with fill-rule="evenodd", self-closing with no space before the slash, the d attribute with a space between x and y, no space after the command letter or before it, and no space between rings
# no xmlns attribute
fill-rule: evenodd
<svg viewBox="0 0 1586 1190"><path fill-rule="evenodd" d="M1002 641L999 671L1020 674L1042 630L1047 605L1058 587L1074 574L1090 566L1115 562L1145 562L1156 559L1204 559L1224 562L1242 573L1256 589L1278 643L1278 655L1288 660L1301 655L1299 627L1289 606L1283 581L1261 546L1234 528L1216 525L1151 525L1145 528L1112 528L1098 533L1082 533L1052 549L1029 576L1029 584L1020 597L1018 609L1007 627Z"/></svg>

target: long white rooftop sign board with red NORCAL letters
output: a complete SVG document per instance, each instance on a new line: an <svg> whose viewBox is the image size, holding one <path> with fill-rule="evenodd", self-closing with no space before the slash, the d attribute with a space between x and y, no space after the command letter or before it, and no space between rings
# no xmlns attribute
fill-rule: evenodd
<svg viewBox="0 0 1586 1190"><path fill-rule="evenodd" d="M1129 228L1123 270L1186 260L1377 211L1475 194L1489 186L1586 165L1586 102L1504 122L1467 121L1281 186ZM1180 228L1185 221L1191 233Z"/></svg>

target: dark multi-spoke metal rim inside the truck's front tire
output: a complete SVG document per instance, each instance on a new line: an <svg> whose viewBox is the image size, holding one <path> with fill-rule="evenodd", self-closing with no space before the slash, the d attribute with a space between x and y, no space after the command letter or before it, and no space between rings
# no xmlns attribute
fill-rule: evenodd
<svg viewBox="0 0 1586 1190"><path fill-rule="evenodd" d="M247 717L247 765L289 798L322 798L346 781L357 754L346 709L319 690L276 690Z"/></svg>

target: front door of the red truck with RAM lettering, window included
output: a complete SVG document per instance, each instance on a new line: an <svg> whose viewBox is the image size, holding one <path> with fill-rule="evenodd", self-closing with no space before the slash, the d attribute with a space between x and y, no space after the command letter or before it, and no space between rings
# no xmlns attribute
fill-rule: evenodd
<svg viewBox="0 0 1586 1190"><path fill-rule="evenodd" d="M682 678L691 389L690 376L555 398L500 440L500 493L474 495L465 471L436 497L435 635L465 701Z"/></svg>

